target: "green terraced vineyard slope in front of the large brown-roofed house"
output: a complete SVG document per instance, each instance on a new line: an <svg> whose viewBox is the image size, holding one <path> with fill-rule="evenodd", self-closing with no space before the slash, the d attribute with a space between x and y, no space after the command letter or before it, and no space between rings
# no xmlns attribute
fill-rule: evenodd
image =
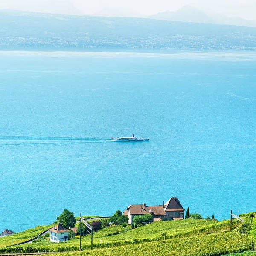
<svg viewBox="0 0 256 256"><path fill-rule="evenodd" d="M90 250L90 235L82 237L79 250L79 236L66 242L51 243L43 238L31 244L3 247L0 240L0 253L67 252L58 256L219 256L253 250L252 238L247 227L256 213L241 215L245 222L186 219L179 221L157 221L131 229L111 225L98 230L93 235L93 248ZM77 224L78 225L78 224ZM38 230L37 230L38 231ZM27 230L16 234L20 239ZM242 254L241 256L247 256Z"/></svg>

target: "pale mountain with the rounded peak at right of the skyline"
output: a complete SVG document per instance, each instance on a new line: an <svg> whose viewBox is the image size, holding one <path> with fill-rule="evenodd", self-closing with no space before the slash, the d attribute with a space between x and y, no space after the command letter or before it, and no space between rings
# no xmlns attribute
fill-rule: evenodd
<svg viewBox="0 0 256 256"><path fill-rule="evenodd" d="M218 13L205 13L193 6L184 6L176 12L159 12L155 15L148 16L147 18L156 20L256 27L256 21L245 20L240 17L227 17Z"/></svg>

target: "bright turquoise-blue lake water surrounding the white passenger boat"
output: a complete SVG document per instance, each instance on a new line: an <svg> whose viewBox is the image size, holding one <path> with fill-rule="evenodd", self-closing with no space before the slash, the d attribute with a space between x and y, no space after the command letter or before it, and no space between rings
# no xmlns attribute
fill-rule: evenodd
<svg viewBox="0 0 256 256"><path fill-rule="evenodd" d="M0 231L176 195L204 218L256 210L256 53L0 60ZM109 140L132 133L151 140Z"/></svg>

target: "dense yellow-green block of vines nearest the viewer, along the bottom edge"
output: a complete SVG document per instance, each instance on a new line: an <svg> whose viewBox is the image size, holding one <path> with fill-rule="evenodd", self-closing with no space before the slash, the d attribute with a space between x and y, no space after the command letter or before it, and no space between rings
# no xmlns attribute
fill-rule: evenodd
<svg viewBox="0 0 256 256"><path fill-rule="evenodd" d="M154 241L146 244L135 243L122 247L87 250L81 253L70 252L55 256L219 256L245 250L252 250L248 235L228 232Z"/></svg>

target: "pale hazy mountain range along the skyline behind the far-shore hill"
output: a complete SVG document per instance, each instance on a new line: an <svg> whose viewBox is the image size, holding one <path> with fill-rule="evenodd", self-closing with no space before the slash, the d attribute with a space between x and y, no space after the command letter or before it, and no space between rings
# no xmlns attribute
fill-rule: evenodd
<svg viewBox="0 0 256 256"><path fill-rule="evenodd" d="M3 6L3 4L1 5ZM85 15L83 11L74 6L69 0L51 0L51 1L34 1L23 0L14 6L11 1L4 3L5 9L16 9L29 12L65 14L65 15ZM252 8L253 9L253 8ZM93 17L143 17L138 12L132 12L128 9L105 8L99 12L87 15ZM166 11L147 16L145 18L168 21L195 22L206 24L224 24L235 26L256 27L256 20L246 20L241 17L227 17L219 13L203 12L193 6L183 6L176 12Z"/></svg>

